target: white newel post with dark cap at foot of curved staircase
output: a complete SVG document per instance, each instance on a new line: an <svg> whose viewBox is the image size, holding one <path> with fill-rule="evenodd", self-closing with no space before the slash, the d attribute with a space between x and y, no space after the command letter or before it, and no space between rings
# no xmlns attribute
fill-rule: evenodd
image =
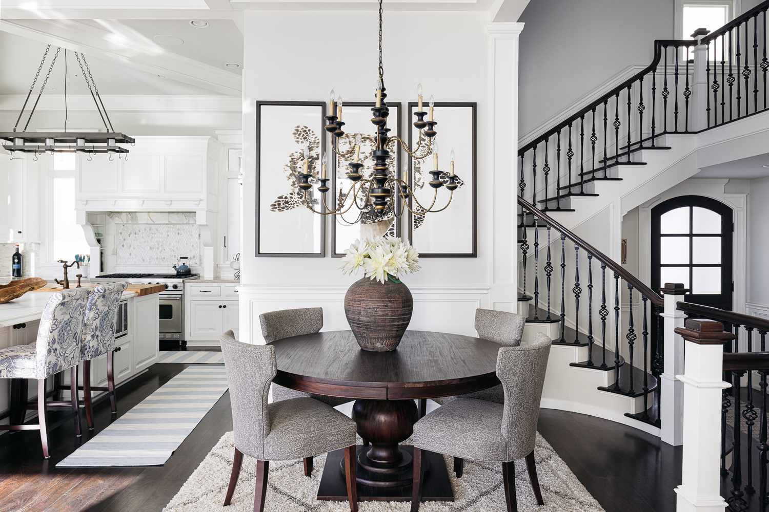
<svg viewBox="0 0 769 512"><path fill-rule="evenodd" d="M689 290L680 282L666 282L661 289L665 298L664 319L664 368L661 378L660 397L660 437L673 446L683 441L684 385L675 376L684 373L684 339L675 329L684 326L686 315L676 307L676 302L683 301Z"/></svg>

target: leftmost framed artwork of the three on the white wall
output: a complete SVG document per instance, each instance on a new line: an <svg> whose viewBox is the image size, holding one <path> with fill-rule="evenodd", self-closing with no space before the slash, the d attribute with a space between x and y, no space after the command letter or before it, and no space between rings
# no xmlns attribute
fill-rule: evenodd
<svg viewBox="0 0 769 512"><path fill-rule="evenodd" d="M318 177L325 150L323 101L256 102L256 254L255 256L325 256L325 216L316 187L305 193L297 173ZM314 180L311 179L311 183Z"/></svg>

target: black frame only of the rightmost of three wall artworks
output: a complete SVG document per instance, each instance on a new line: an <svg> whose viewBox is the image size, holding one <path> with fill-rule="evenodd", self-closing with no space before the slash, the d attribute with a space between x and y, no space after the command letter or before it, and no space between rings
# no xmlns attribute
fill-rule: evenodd
<svg viewBox="0 0 769 512"><path fill-rule="evenodd" d="M415 101L409 101L408 103L408 118L411 120L413 117L414 111L416 111L416 108L418 107L418 103ZM471 108L472 109L472 121L471 121L471 148L472 148L472 169L471 169L471 175L472 175L472 187L471 187L471 194L472 194L472 229L471 229L471 246L472 249L469 253L423 253L419 251L419 248L417 246L414 246L414 249L417 249L419 251L419 257L420 258L477 258L478 257L478 103L471 101L471 102L464 102L464 101L444 101L444 102L435 102L434 107L462 107L462 108ZM438 131L438 140L440 140L441 137L441 124L440 119L436 118L436 121L438 121L438 126L436 127L436 130ZM413 147L414 141L413 141L413 134L414 130L411 129L411 122L409 122L408 125L408 146ZM461 177L461 171L458 172L459 177ZM411 157L408 158L408 185L409 187L413 187L414 185L414 160L411 159ZM461 193L461 189L458 189L455 191ZM413 195L413 194L412 194ZM409 199L409 206L411 208L414 207L414 203L411 199ZM451 206L449 206L451 208ZM428 215L441 215L441 213L428 213ZM409 210L408 212L408 243L414 244L414 214Z"/></svg>

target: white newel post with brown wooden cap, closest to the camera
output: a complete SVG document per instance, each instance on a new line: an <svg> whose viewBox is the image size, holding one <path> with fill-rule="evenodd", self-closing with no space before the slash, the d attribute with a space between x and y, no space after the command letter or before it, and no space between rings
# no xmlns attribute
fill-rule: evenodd
<svg viewBox="0 0 769 512"><path fill-rule="evenodd" d="M677 512L724 512L721 488L721 380L724 343L734 339L714 320L689 319L675 329L686 342L684 375L684 455Z"/></svg>

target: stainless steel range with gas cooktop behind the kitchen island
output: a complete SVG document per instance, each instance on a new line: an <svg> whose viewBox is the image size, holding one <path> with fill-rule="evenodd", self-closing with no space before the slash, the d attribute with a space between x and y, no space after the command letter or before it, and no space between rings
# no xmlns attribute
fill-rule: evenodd
<svg viewBox="0 0 769 512"><path fill-rule="evenodd" d="M177 276L176 274L104 274L96 276L93 282L125 281L131 284L165 285L160 292L160 339L185 342L185 280L200 279L198 274Z"/></svg>

